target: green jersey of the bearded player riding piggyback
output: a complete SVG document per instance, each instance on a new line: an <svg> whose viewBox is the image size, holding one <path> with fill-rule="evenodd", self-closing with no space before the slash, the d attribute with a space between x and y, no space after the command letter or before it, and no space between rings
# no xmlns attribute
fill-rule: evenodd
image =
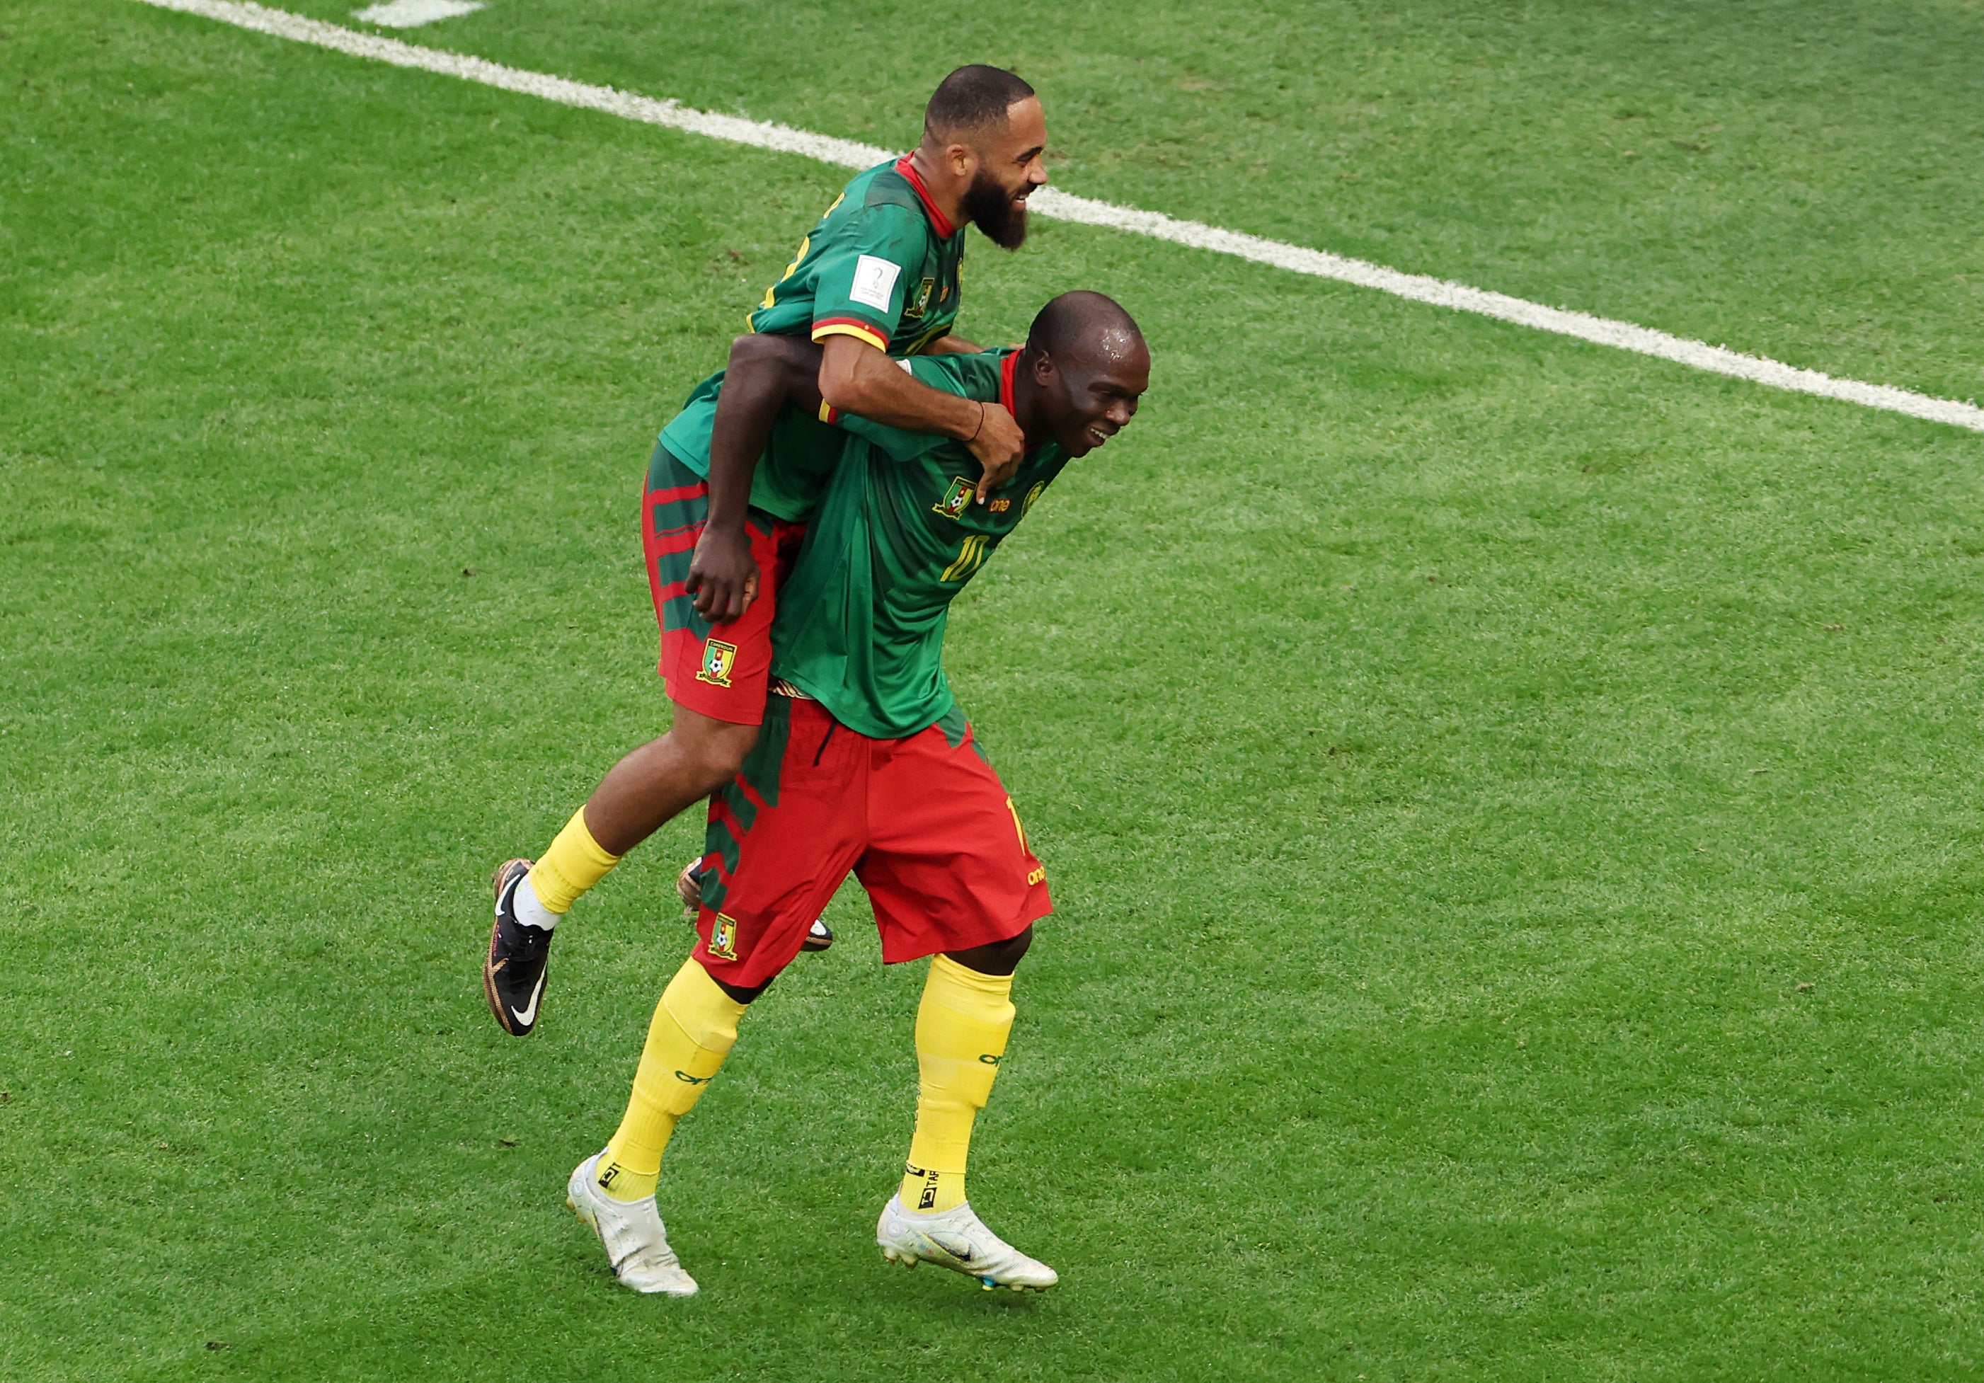
<svg viewBox="0 0 1984 1383"><path fill-rule="evenodd" d="M800 242L764 304L746 317L772 335L853 335L891 355L917 355L958 319L964 232L930 204L909 159L855 177ZM661 433L663 444L698 476L710 474L710 429L724 373L696 385ZM980 397L980 395L970 395ZM996 395L984 395L992 399ZM752 474L750 504L804 522L847 437L821 421L786 411Z"/></svg>

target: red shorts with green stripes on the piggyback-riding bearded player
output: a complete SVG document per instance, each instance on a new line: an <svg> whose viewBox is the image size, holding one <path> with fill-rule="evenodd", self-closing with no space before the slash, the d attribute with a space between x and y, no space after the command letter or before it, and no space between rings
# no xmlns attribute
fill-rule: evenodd
<svg viewBox="0 0 1984 1383"><path fill-rule="evenodd" d="M657 444L647 466L647 494L641 498L647 587L661 623L661 665L655 671L675 704L732 724L762 724L772 677L778 587L800 556L806 524L750 512L744 532L750 536L752 562L758 564L758 597L742 617L710 625L682 589L708 516L708 482Z"/></svg>

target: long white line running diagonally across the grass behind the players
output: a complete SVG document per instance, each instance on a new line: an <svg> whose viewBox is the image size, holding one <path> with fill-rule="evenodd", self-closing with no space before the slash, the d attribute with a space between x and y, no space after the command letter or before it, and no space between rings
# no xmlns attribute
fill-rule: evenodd
<svg viewBox="0 0 1984 1383"><path fill-rule="evenodd" d="M504 67L502 63L486 62L482 58L403 44L377 34L361 34L357 30L323 24L319 20L306 20L304 16L290 14L286 10L270 10L242 0L139 2L161 10L198 14L208 20L220 20L222 24L234 24L236 28L254 30L258 34L274 34L276 38L296 40L300 44L315 44L317 48L329 48L355 58L371 58L375 62L393 63L395 67L436 71L446 77L478 81L504 91L536 95L546 101L577 105L589 111L605 111L607 115L619 115L647 125L667 125L692 135L726 139L736 145L752 145L754 149L796 153L807 159L817 159L819 163L867 169L893 157L893 151L877 149L875 145L859 145L849 139L813 135L804 129L792 129L790 125L750 121L736 115L714 115L710 111L690 109L681 101L657 101L655 97L615 91L613 87L595 87L585 81L569 81L565 77L552 77L542 71ZM1450 284L1425 274L1401 274L1399 270L1389 270L1383 264L1347 260L1339 254L1307 250L1298 244L1282 244L1280 240L1264 240L1260 236L1240 234L1238 230L1220 230L1218 226L1206 226L1196 220L1177 220L1175 216L1165 216L1163 212L1097 202L1087 196L1057 192L1052 187L1034 192L1032 204L1042 216L1052 216L1055 220L1073 220L1085 226L1109 226L1111 230L1127 230L1155 240L1171 240L1175 244L1192 246L1194 250L1232 254L1242 260L1254 260L1256 264L1272 264L1274 268L1290 270L1294 274L1333 278L1343 284L1375 288L1397 298L1411 298L1413 302L1452 308L1454 312L1476 312L1486 317L1500 317L1502 321L1536 327L1538 331L1573 335L1581 341L1613 345L1621 351L1635 351L1639 355L1655 355L1678 365L1706 369L1716 375L1750 379L1760 385L1770 385L1772 389L1811 393L1821 399L1843 399L1869 409L1907 413L1909 417L1928 419L1930 423L1948 423L1952 427L1984 433L1984 409L1970 403L1958 403L1954 399L1932 399L1928 395L1895 389L1891 385L1835 379L1815 369L1784 365L1762 355L1744 355L1722 345L1690 341L1686 337L1669 335L1667 331L1655 331L1653 327L1641 327L1631 321L1593 317L1565 308L1546 308L1542 304L1488 292L1484 288Z"/></svg>

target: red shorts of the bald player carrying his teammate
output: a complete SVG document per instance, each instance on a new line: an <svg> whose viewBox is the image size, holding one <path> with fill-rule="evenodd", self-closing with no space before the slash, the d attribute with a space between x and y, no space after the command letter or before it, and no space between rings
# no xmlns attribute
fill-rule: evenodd
<svg viewBox="0 0 1984 1383"><path fill-rule="evenodd" d="M855 734L774 694L744 768L710 798L694 956L740 988L800 954L847 873L881 958L1008 941L1054 911L1020 814L956 710L905 740Z"/></svg>

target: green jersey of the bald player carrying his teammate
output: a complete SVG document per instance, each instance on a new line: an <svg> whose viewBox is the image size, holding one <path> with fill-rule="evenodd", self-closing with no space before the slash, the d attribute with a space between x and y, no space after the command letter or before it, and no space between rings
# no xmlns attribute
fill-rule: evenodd
<svg viewBox="0 0 1984 1383"><path fill-rule="evenodd" d="M917 361L925 383L982 397L998 381L1012 411L1016 349ZM778 591L772 673L873 738L903 738L942 720L956 698L944 679L952 597L1026 518L1067 452L1054 442L974 504L978 460L964 442L847 419L847 452L819 500L806 548Z"/></svg>

